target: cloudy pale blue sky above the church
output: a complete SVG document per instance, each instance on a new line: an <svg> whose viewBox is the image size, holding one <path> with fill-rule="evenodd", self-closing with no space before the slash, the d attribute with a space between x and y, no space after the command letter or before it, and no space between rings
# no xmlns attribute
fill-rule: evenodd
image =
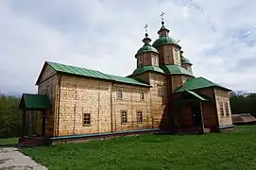
<svg viewBox="0 0 256 170"><path fill-rule="evenodd" d="M128 76L161 12L195 76L256 91L255 0L1 0L0 93L36 93L45 60Z"/></svg>

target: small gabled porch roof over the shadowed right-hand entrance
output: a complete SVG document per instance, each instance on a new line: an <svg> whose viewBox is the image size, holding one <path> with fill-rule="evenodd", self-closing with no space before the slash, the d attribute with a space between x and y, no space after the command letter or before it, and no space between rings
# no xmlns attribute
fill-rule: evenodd
<svg viewBox="0 0 256 170"><path fill-rule="evenodd" d="M177 98L177 102L189 102L189 101L209 102L209 101L212 101L212 98L203 93L196 93L188 90L181 93Z"/></svg>

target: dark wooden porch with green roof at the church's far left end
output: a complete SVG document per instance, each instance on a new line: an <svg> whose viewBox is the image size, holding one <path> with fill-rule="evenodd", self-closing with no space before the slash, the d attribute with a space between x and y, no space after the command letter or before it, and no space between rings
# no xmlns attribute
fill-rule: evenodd
<svg viewBox="0 0 256 170"><path fill-rule="evenodd" d="M24 93L19 110L23 112L19 144L23 146L48 144L50 138L45 135L46 112L51 110L48 97L43 94Z"/></svg>

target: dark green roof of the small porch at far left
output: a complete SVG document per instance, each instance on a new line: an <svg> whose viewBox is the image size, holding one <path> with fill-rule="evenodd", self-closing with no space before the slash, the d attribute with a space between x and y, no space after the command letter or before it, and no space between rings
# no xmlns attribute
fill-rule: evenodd
<svg viewBox="0 0 256 170"><path fill-rule="evenodd" d="M19 110L50 110L51 104L47 95L24 93Z"/></svg>

